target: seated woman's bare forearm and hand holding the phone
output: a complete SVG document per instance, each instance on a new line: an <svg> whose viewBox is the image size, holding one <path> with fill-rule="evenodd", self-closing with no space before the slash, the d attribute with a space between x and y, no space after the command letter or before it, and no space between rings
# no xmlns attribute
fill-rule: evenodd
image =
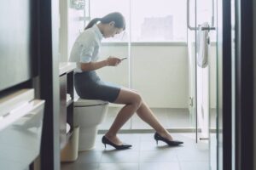
<svg viewBox="0 0 256 170"><path fill-rule="evenodd" d="M95 71L104 66L116 66L119 65L121 59L116 57L108 57L108 59L104 59L102 61L97 62L89 62L89 63L80 63L82 71Z"/></svg>

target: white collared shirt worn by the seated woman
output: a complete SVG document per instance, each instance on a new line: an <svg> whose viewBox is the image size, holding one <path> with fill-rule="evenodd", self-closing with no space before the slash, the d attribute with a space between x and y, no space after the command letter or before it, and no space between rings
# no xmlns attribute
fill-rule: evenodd
<svg viewBox="0 0 256 170"><path fill-rule="evenodd" d="M95 62L99 59L99 51L102 46L102 32L94 25L77 37L71 50L70 62L76 62L75 72L82 72L80 63Z"/></svg>

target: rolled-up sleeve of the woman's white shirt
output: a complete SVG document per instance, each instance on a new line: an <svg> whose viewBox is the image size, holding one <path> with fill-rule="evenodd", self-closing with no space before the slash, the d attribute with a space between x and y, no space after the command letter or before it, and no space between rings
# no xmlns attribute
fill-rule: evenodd
<svg viewBox="0 0 256 170"><path fill-rule="evenodd" d="M92 59L96 46L96 39L93 35L87 35L82 43L82 50L80 54L81 63L89 63Z"/></svg>

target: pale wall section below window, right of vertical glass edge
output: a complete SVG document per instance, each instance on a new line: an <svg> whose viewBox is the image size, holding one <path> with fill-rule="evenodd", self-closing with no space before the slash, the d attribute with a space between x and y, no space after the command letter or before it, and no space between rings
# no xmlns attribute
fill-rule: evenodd
<svg viewBox="0 0 256 170"><path fill-rule="evenodd" d="M187 108L189 96L187 46L131 48L132 88L151 107Z"/></svg>

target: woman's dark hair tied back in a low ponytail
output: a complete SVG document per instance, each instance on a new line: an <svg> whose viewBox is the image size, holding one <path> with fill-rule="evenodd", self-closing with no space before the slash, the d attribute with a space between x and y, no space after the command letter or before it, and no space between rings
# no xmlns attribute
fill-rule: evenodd
<svg viewBox="0 0 256 170"><path fill-rule="evenodd" d="M116 28L123 28L125 30L125 18L119 12L110 13L110 14L105 15L102 18L95 18L93 20L90 20L90 23L84 28L84 30L92 27L98 21L101 21L102 24L108 24L113 21L114 26Z"/></svg>

